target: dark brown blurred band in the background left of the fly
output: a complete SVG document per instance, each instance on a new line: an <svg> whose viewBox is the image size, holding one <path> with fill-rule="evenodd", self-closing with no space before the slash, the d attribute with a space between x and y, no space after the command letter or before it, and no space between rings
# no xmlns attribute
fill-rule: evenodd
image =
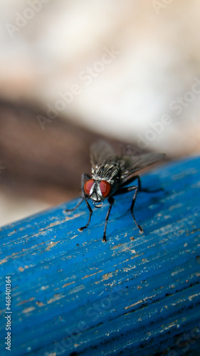
<svg viewBox="0 0 200 356"><path fill-rule="evenodd" d="M38 108L0 102L0 163L6 167L0 188L56 204L78 195L81 174L90 174L90 144L102 136L60 117L42 130L37 115L46 117Z"/></svg>

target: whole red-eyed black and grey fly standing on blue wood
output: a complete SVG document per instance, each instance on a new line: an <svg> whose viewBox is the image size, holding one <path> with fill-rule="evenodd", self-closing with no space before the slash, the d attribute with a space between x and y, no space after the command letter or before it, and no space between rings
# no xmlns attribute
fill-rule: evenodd
<svg viewBox="0 0 200 356"><path fill-rule="evenodd" d="M147 192L147 189L141 188L140 177L134 174L140 169L149 166L149 164L159 161L163 157L163 153L131 155L129 152L125 155L116 155L114 150L112 150L112 147L110 147L107 142L95 142L90 147L91 176L84 173L81 178L81 200L73 209L65 210L73 211L78 208L83 200L85 200L90 215L88 223L78 230L83 231L83 229L86 229L90 224L93 210L91 209L88 200L91 199L91 201L93 201L95 208L100 208L103 204L103 201L108 199L110 206L105 217L105 227L102 237L102 241L106 241L107 221L110 215L112 204L115 201L114 197L117 194L125 194L127 192L134 191L130 211L136 226L140 230L140 233L142 233L143 229L135 219L133 208L138 190ZM131 184L135 180L137 181L136 185L127 187L127 185Z"/></svg>

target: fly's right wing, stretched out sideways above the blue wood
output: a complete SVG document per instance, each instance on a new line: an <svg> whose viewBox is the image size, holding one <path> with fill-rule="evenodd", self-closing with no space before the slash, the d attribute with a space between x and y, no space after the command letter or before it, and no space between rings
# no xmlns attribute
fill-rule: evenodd
<svg viewBox="0 0 200 356"><path fill-rule="evenodd" d="M149 164L159 161L164 158L164 156L164 153L144 153L136 156L126 155L119 157L122 182L125 182L133 173L149 166Z"/></svg>

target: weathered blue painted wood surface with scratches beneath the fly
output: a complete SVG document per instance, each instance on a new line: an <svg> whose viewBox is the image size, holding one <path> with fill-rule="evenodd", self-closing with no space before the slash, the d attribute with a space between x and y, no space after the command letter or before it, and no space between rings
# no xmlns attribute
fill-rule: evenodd
<svg viewBox="0 0 200 356"><path fill-rule="evenodd" d="M198 355L200 158L142 176L132 193L94 209L78 199L0 229L1 355ZM5 277L11 276L11 352ZM163 352L163 353L162 353ZM189 353L188 353L189 352Z"/></svg>

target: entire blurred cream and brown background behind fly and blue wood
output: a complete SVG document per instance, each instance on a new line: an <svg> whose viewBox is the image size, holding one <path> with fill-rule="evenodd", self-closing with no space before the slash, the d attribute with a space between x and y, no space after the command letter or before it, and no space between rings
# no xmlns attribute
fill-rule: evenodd
<svg viewBox="0 0 200 356"><path fill-rule="evenodd" d="M198 0L0 0L0 226L80 194L90 143L200 151Z"/></svg>

